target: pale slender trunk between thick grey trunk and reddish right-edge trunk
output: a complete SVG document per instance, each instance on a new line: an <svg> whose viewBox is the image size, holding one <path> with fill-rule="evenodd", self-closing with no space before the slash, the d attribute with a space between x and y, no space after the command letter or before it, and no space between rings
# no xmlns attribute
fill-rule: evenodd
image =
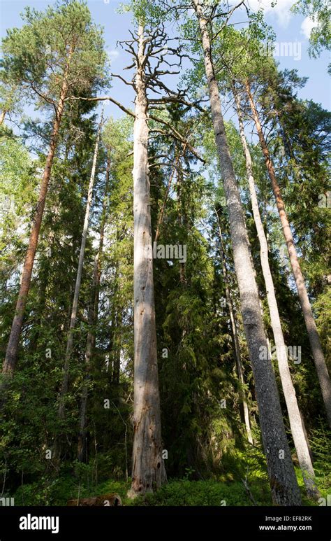
<svg viewBox="0 0 331 541"><path fill-rule="evenodd" d="M263 278L265 281L265 290L267 292L267 303L269 306L270 321L272 325L272 332L274 335L274 344L277 351L277 361L279 367L279 375L281 377L281 386L283 388L284 398L288 411L288 418L290 420L290 430L293 435L295 450L297 451L297 458L300 464L300 468L302 470L302 476L307 489L307 494L312 498L319 498L319 492L314 481L314 468L311 463L309 447L307 445L305 437L304 423L300 414L300 409L297 405L295 388L288 367L287 350L284 341L283 331L281 329L281 319L279 317L276 295L274 293L274 281L272 279L268 259L267 238L265 237L265 231L263 229L260 210L258 208L258 197L256 195L256 187L253 178L251 153L249 152L249 146L247 145L247 139L244 132L244 122L242 120L242 111L240 108L240 96L235 88L235 83L233 83L233 94L235 96L235 104L237 108L240 128L240 138L242 141L242 148L244 150L244 156L246 161L246 170L247 178L249 181L249 193L251 195L253 217L256 225L256 231L258 233L258 240L260 242L260 261Z"/></svg>

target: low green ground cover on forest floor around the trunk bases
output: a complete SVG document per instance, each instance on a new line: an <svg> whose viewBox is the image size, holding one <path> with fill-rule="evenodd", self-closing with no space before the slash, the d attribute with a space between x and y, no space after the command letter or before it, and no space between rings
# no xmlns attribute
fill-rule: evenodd
<svg viewBox="0 0 331 541"><path fill-rule="evenodd" d="M308 500L304 494L304 484L299 468L295 468L297 479L302 491L302 505L322 505ZM327 498L330 487L330 472L325 467L315 465L316 481L321 491L321 497ZM131 485L121 479L108 479L98 484L91 484L89 472L87 475L75 476L72 472L32 484L24 484L15 493L15 505L66 505L73 498L91 498L110 493L117 493L122 498L122 505L169 505L169 506L249 506L272 505L270 487L266 476L259 471L252 472L248 477L249 491L242 479L230 480L231 475L223 475L218 479L190 480L169 479L156 493L145 497L129 500L126 496ZM228 479L227 479L228 478Z"/></svg>

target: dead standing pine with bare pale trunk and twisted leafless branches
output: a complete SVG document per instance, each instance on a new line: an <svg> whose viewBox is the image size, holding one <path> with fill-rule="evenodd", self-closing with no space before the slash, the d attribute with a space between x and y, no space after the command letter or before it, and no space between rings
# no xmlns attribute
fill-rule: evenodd
<svg viewBox="0 0 331 541"><path fill-rule="evenodd" d="M166 481L162 458L161 414L156 349L156 323L153 281L152 226L150 211L149 134L172 136L196 155L184 137L166 120L165 104L191 108L184 92L172 92L161 76L177 74L174 66L182 62L181 48L170 47L164 27L138 22L132 40L122 46L132 55L135 90L133 132L133 214L134 214L134 413L133 470L130 496L158 489ZM172 41L172 40L171 40ZM173 62L170 62L170 58ZM160 97L161 94L161 97ZM160 110L163 114L159 114ZM152 114L151 114L152 113ZM153 125L150 127L150 121ZM198 155L196 155L198 157ZM155 165L155 164L154 164Z"/></svg>

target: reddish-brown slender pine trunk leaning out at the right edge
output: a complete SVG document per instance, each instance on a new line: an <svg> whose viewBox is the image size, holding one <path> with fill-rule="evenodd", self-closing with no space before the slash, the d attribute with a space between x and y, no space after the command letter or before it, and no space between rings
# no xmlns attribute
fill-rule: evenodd
<svg viewBox="0 0 331 541"><path fill-rule="evenodd" d="M318 331L317 331L316 323L314 320L314 314L311 309L311 304L309 302L307 288L305 286L304 277L302 275L301 268L300 268L300 262L297 258L297 251L295 250L293 235L290 230L290 224L288 223L284 200L281 197L281 190L277 183L276 174L274 172L274 166L272 164L269 149L267 148L267 143L263 135L263 130L260 125L260 120L258 118L258 111L256 110L256 105L253 101L253 96L251 94L251 88L248 81L246 82L245 87L247 91L247 96L249 98L249 104L251 106L251 113L253 115L253 120L256 125L256 131L258 132L258 139L260 141L260 146L262 148L263 155L265 157L265 165L267 167L267 172L269 174L270 181L272 183L272 190L274 192L274 197L276 199L277 209L279 212L279 218L281 219L281 226L283 227L286 246L288 249L288 255L290 258L290 265L292 267L295 284L297 286L297 294L299 295L300 304L302 307L304 323L306 323L309 343L311 347L311 352L313 353L313 357L314 357L314 363L316 366L318 380L321 386L325 410L326 410L328 421L331 427L331 382L330 382L330 377L328 374L328 367L325 363L321 341L318 336Z"/></svg>

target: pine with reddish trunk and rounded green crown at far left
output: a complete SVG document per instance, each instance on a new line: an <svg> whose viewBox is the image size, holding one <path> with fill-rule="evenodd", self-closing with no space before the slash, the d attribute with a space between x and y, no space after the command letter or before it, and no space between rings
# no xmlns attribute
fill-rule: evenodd
<svg viewBox="0 0 331 541"><path fill-rule="evenodd" d="M90 92L93 87L98 87L104 65L103 41L98 29L91 24L86 6L74 1L65 6L47 8L45 13L27 8L24 19L26 24L22 29L9 31L3 40L2 66L13 85L17 84L25 93L32 90L40 104L55 112L20 293L3 363L3 374L6 375L13 373L17 361L24 310L66 100L73 87L77 91L79 85L80 92ZM71 36L70 40L66 36Z"/></svg>

